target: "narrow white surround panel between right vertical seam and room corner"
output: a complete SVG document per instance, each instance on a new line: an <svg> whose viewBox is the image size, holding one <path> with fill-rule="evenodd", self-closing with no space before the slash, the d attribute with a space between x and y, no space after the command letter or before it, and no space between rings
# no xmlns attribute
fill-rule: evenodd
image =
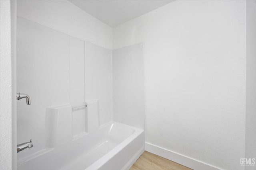
<svg viewBox="0 0 256 170"><path fill-rule="evenodd" d="M111 51L85 42L85 96L98 99L100 125L112 120Z"/></svg>

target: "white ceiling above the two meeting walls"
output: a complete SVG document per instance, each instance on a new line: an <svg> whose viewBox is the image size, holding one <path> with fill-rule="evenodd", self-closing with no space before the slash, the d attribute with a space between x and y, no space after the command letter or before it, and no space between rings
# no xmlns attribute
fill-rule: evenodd
<svg viewBox="0 0 256 170"><path fill-rule="evenodd" d="M115 27L174 0L69 0L78 8Z"/></svg>

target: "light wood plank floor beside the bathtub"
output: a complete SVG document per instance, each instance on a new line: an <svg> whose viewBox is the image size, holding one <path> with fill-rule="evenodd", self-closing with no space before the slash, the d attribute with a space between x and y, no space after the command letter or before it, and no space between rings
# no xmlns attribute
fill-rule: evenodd
<svg viewBox="0 0 256 170"><path fill-rule="evenodd" d="M171 160L152 154L143 152L138 160L132 165L130 170L192 170L181 164L177 164Z"/></svg>

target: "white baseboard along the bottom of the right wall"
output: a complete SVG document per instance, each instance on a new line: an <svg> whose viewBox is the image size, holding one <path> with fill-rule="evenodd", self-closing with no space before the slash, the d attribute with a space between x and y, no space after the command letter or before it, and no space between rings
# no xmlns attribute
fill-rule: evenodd
<svg viewBox="0 0 256 170"><path fill-rule="evenodd" d="M151 143L145 143L145 150L148 152L151 152L153 154L156 154L158 156L162 156L166 159L172 160L173 162L176 162L178 164L182 164L182 165L184 165L188 168L194 169L194 170L222 170L215 166L206 164L204 162L195 160L193 158L189 158L188 156L184 156L182 154L173 152L171 150L167 150L167 149L158 147Z"/></svg>

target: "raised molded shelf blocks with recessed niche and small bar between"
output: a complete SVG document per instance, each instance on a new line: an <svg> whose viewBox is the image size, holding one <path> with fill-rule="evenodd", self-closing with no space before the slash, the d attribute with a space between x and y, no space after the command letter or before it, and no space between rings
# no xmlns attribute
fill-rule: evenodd
<svg viewBox="0 0 256 170"><path fill-rule="evenodd" d="M48 107L46 110L46 147L55 148L99 129L98 100L86 101L86 106Z"/></svg>

